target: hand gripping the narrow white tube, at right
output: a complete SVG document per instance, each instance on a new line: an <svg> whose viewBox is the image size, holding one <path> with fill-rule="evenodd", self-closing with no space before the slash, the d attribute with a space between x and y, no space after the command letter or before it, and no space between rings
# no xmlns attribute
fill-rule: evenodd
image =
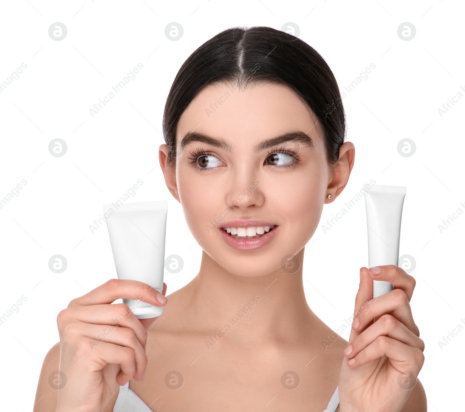
<svg viewBox="0 0 465 412"><path fill-rule="evenodd" d="M360 269L354 322L339 375L341 411L402 411L425 361L425 343L409 303L415 279L398 266L377 267L381 272L376 275L374 268ZM390 282L392 291L372 299L373 280ZM405 371L413 375L405 376Z"/></svg>

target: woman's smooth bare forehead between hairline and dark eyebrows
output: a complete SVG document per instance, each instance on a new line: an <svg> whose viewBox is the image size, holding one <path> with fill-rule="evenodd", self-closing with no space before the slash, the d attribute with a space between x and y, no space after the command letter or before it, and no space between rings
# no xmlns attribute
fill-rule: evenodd
<svg viewBox="0 0 465 412"><path fill-rule="evenodd" d="M180 141L195 129L239 144L301 130L318 140L315 116L287 86L260 84L239 90L221 83L204 87L181 116Z"/></svg>

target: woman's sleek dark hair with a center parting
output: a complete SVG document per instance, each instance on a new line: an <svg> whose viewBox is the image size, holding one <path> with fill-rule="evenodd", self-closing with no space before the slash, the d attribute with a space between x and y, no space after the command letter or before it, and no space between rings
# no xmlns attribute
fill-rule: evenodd
<svg viewBox="0 0 465 412"><path fill-rule="evenodd" d="M339 86L320 54L299 38L272 27L233 27L202 44L176 74L163 114L168 164L176 162L176 128L201 89L214 83L245 89L274 83L290 87L325 132L326 158L339 159L345 113Z"/></svg>

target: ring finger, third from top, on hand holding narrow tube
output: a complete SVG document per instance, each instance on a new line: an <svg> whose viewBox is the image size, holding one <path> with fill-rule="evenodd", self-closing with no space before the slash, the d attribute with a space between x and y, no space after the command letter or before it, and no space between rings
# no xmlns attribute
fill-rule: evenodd
<svg viewBox="0 0 465 412"><path fill-rule="evenodd" d="M425 350L425 342L409 331L402 322L386 314L381 316L373 325L368 326L344 349L346 358L353 358L366 346L371 345L379 336L396 339L405 345Z"/></svg>

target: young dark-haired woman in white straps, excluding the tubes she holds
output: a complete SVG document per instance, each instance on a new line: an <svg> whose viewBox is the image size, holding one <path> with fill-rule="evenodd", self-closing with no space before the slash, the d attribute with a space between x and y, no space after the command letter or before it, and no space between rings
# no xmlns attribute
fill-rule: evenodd
<svg viewBox="0 0 465 412"><path fill-rule="evenodd" d="M166 285L120 279L73 299L34 411L426 411L411 276L360 269L350 345L305 299L305 246L355 153L325 60L269 27L225 30L180 68L163 129L160 166L203 249L199 273L168 299ZM394 289L372 299L373 279ZM164 306L159 319L112 305L140 296Z"/></svg>

